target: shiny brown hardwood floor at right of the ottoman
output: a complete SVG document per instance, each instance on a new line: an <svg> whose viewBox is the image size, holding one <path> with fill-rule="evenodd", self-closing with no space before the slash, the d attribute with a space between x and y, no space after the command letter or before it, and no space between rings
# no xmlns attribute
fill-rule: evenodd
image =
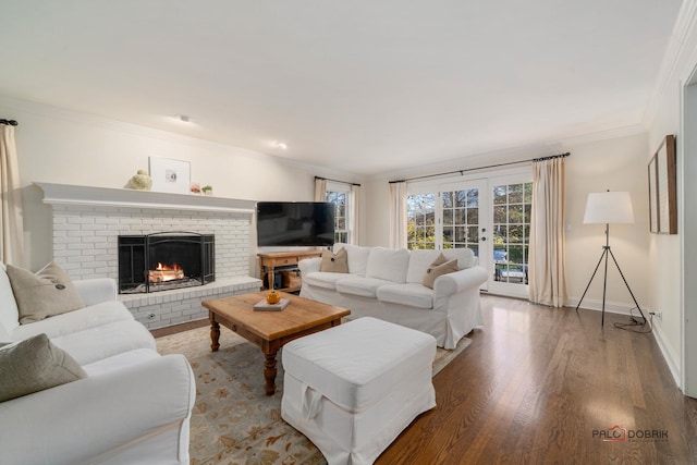
<svg viewBox="0 0 697 465"><path fill-rule="evenodd" d="M697 463L697 400L651 334L614 328L628 317L601 328L599 311L482 304L485 327L433 378L438 406L376 464Z"/></svg>

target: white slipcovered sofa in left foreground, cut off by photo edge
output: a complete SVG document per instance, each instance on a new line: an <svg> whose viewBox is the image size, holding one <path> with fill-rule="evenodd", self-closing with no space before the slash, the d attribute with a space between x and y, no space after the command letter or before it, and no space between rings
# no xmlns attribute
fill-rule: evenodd
<svg viewBox="0 0 697 465"><path fill-rule="evenodd" d="M152 335L117 301L113 280L74 284L84 308L20 325L0 266L0 343L46 333L87 374L0 402L0 462L188 464L196 391L188 362L156 352Z"/></svg>

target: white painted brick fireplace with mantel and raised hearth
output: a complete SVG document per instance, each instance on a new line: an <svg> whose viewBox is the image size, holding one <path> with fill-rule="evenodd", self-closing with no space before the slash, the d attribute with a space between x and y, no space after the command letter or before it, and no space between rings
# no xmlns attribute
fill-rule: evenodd
<svg viewBox="0 0 697 465"><path fill-rule="evenodd" d="M52 207L53 260L73 279L119 279L118 236L186 231L216 236L216 281L120 295L135 318L161 328L206 318L200 302L259 290L249 276L255 203L199 195L36 183Z"/></svg>

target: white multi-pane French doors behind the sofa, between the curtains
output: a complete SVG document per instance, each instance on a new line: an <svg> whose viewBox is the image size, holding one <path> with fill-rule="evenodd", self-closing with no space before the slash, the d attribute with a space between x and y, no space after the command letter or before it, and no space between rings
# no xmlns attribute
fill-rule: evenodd
<svg viewBox="0 0 697 465"><path fill-rule="evenodd" d="M470 248L489 271L481 286L527 297L531 182L505 176L421 184L407 197L408 248Z"/></svg>

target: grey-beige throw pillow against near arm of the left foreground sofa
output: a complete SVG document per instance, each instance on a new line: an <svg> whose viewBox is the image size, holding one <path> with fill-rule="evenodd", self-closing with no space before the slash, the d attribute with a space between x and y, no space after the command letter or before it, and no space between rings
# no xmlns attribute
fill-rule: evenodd
<svg viewBox="0 0 697 465"><path fill-rule="evenodd" d="M87 377L44 333L0 348L0 402Z"/></svg>

